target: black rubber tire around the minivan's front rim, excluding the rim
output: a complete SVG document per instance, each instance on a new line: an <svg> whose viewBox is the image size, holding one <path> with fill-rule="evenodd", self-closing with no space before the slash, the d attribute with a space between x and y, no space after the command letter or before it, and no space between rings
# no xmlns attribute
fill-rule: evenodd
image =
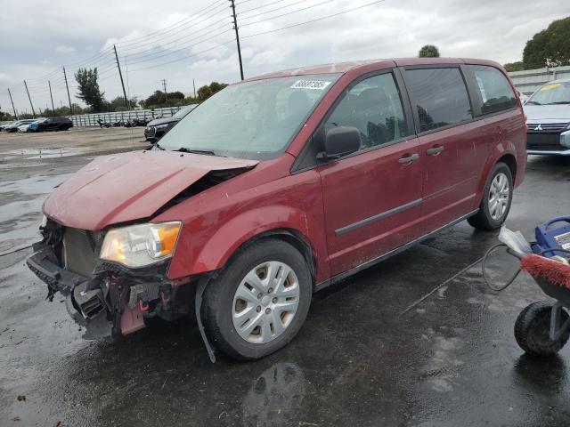
<svg viewBox="0 0 570 427"><path fill-rule="evenodd" d="M297 275L299 302L297 312L281 335L273 341L252 343L233 326L233 297L249 271L263 262L283 262ZM263 239L241 250L206 287L202 318L214 345L232 359L259 359L287 345L305 322L311 305L313 280L305 258L297 249L279 239Z"/></svg>

